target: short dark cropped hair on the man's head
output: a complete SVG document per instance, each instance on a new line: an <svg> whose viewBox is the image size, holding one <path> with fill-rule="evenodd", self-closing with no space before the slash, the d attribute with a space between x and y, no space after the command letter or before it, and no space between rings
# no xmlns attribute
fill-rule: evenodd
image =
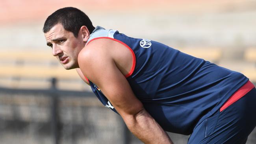
<svg viewBox="0 0 256 144"><path fill-rule="evenodd" d="M45 20L43 32L47 33L56 24L62 24L63 28L71 31L75 37L78 37L78 32L82 26L86 26L90 33L95 29L89 17L74 7L64 7L52 13Z"/></svg>

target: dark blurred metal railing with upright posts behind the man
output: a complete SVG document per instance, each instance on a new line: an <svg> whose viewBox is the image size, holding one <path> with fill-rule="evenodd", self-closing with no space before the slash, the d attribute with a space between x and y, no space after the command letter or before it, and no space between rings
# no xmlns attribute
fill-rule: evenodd
<svg viewBox="0 0 256 144"><path fill-rule="evenodd" d="M59 104L60 104L60 98L65 97L81 97L81 98L95 98L94 94L92 92L87 91L72 91L72 90L59 90L56 88L56 78L51 79L52 86L50 89L9 89L9 88L0 88L0 94L22 94L22 95L44 95L47 96L50 99L50 131L51 131L51 137L53 140L53 144L60 144L60 138L61 138L61 129L63 127L63 124L61 124L61 119L59 116ZM100 103L99 103L100 104ZM96 105L97 107L101 107L101 105ZM102 106L103 107L103 106ZM104 107L105 109L105 107ZM120 122L122 124L122 139L123 144L129 144L129 135L130 131L128 131L126 125L123 122ZM120 136L120 135L119 135Z"/></svg>

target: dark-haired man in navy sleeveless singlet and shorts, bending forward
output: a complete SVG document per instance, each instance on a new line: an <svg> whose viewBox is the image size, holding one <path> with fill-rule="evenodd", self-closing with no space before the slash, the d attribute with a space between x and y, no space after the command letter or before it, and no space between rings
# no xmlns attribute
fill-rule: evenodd
<svg viewBox="0 0 256 144"><path fill-rule="evenodd" d="M256 125L249 79L159 42L92 25L79 9L52 13L43 28L65 69L76 68L99 100L147 144L245 144Z"/></svg>

